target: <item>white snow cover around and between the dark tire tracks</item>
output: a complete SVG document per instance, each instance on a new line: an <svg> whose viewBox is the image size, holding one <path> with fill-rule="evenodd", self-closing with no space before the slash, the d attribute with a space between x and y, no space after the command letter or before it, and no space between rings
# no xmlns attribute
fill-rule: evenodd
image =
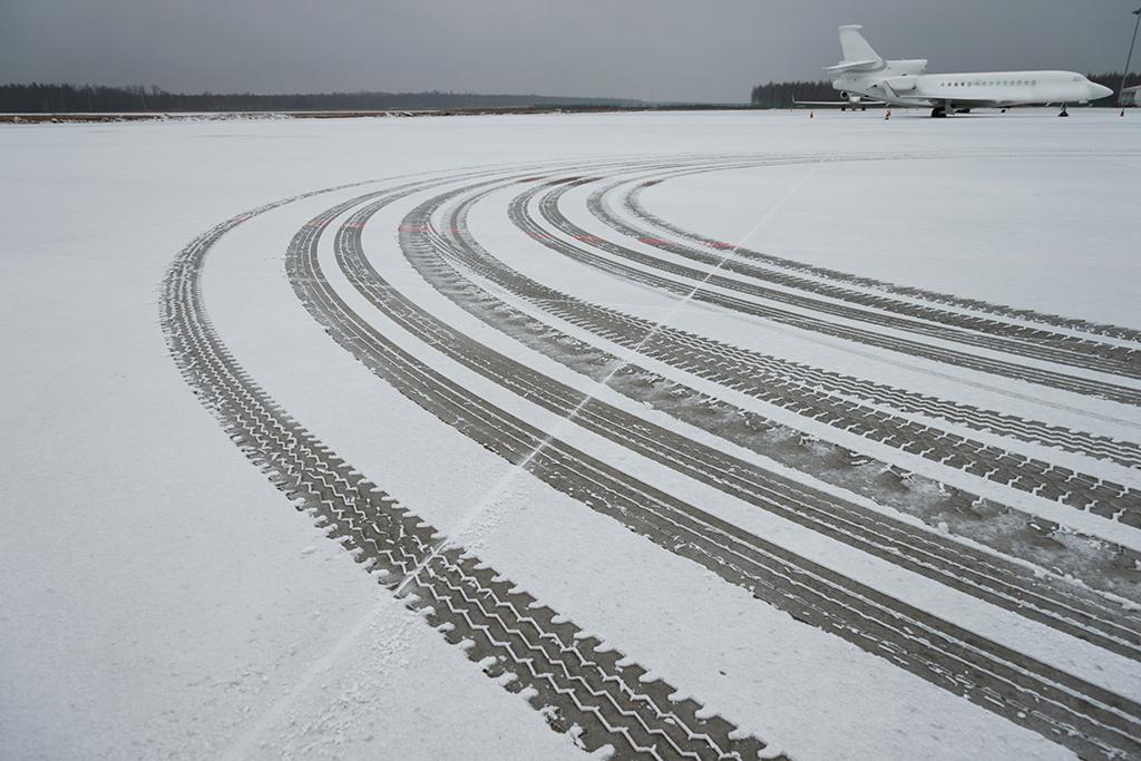
<svg viewBox="0 0 1141 761"><path fill-rule="evenodd" d="M903 112L890 122L874 113L818 113L811 122L804 113L661 113L0 129L2 755L455 758L478 748L484 758L582 758L526 695L487 679L461 648L395 601L238 453L167 353L156 286L202 230L311 189L491 163L759 151L957 157L698 175L648 188L642 200L683 227L737 242L784 199L747 236L751 248L1141 327L1134 285L1141 273L1128 228L1139 200L1135 123L1110 112L1074 110L1068 121L1045 111L939 122ZM300 225L366 189L299 201L240 226L210 254L203 281L208 309L238 362L340 456L542 604L670 681L679 697L691 695L769 742L772 752L1070 756L640 539L378 381L314 323L282 267ZM568 194L567 209L586 192ZM645 316L672 307L512 234L501 219L505 197L491 196L471 220L479 240L501 244L504 260ZM623 410L638 408L486 329L419 280L394 233L415 202L394 204L365 230L369 256L394 285L488 346ZM327 237L326 273L366 314L333 265ZM416 347L382 317L367 318ZM739 319L705 307L690 305L671 324L841 371L861 367L908 388L926 382L928 392L1010 405L1047 421L1099 430L1087 414L1112 416L1106 430L1132 431L1133 440L1141 430L1135 408L1124 405L1065 392L1011 400L1018 389L993 378L980 389L964 382L966 373L939 380L893 370L882 356L863 362L778 331L743 331ZM702 509L1141 697L1135 663L760 515L559 423L422 346L416 355ZM1051 406L1062 402L1073 404ZM1010 489L995 494L1015 500ZM1141 547L1136 532L1107 528L1094 516L1073 523Z"/></svg>

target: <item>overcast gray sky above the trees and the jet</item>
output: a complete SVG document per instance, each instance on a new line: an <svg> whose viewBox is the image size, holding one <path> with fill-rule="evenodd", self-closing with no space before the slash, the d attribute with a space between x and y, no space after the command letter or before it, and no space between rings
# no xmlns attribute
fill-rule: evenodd
<svg viewBox="0 0 1141 761"><path fill-rule="evenodd" d="M839 24L931 71L1118 70L1139 0L0 0L0 81L745 100Z"/></svg>

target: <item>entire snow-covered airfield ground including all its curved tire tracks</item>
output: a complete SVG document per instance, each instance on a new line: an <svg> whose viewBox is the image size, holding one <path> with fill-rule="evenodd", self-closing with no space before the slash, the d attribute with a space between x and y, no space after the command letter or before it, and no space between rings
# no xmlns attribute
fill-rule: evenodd
<svg viewBox="0 0 1141 761"><path fill-rule="evenodd" d="M1141 754L1141 153L1045 114L6 130L0 732Z"/></svg>

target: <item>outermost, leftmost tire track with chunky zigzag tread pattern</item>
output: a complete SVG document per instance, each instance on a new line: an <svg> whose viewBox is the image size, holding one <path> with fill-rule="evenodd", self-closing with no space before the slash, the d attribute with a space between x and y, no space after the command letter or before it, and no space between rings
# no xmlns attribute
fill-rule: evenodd
<svg viewBox="0 0 1141 761"><path fill-rule="evenodd" d="M556 730L574 731L588 751L609 745L623 759L755 759L763 743L741 737L719 717L698 719L698 703L674 702L675 690L667 683L641 681L646 670L620 665L621 653L605 649L462 548L444 549L436 529L292 420L230 355L201 294L210 248L270 209L345 187L234 217L176 258L163 281L160 309L169 349L187 383L298 509L309 512L485 673L510 691L526 690L531 705Z"/></svg>

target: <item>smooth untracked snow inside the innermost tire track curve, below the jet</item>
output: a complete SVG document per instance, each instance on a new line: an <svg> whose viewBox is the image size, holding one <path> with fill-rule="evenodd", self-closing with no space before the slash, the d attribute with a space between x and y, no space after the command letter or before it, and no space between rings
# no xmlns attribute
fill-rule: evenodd
<svg viewBox="0 0 1141 761"><path fill-rule="evenodd" d="M1026 119L1015 114L1012 121ZM1061 153L1046 160L1027 146L995 157L968 153L955 161L737 170L678 178L648 188L642 200L647 209L687 229L756 251L1136 327L1141 314L1131 285L1141 278L1141 265L1128 222L1136 194L1127 191L1136 181L1136 157L1131 163L1111 146L1098 146L1109 149L1092 157ZM754 204L763 208L799 177L804 184L782 213L750 232ZM723 195L748 202L691 202ZM823 220L822 209L827 209Z"/></svg>

